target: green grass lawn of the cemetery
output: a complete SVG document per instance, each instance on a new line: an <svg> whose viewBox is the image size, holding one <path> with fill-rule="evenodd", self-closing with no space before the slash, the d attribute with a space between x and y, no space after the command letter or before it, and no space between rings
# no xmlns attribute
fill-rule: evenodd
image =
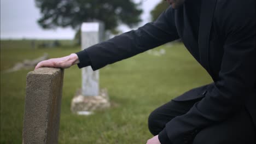
<svg viewBox="0 0 256 144"><path fill-rule="evenodd" d="M100 70L100 87L107 88L112 107L91 116L71 113L71 100L81 87L77 65L65 70L59 143L146 143L152 135L147 119L156 107L191 88L210 83L204 69L183 44L160 46L163 56L144 52ZM5 73L17 62L49 53L50 58L78 52L79 47L31 49L28 40L1 40L1 143L22 143L26 74Z"/></svg>

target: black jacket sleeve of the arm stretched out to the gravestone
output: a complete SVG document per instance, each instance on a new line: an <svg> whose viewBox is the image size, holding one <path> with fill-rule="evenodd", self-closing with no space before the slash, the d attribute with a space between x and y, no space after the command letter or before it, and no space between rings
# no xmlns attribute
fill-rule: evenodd
<svg viewBox="0 0 256 144"><path fill-rule="evenodd" d="M173 20L173 9L170 7L155 22L147 23L135 31L126 32L112 39L88 47L78 52L80 65L86 65L89 56L93 70L100 69L122 59L153 49L156 46L178 39ZM81 68L81 67L79 67Z"/></svg>

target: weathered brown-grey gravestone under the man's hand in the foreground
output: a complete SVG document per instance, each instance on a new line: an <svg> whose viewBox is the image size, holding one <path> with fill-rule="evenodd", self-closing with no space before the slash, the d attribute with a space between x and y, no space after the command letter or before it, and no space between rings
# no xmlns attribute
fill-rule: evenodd
<svg viewBox="0 0 256 144"><path fill-rule="evenodd" d="M63 72L39 68L27 74L22 143L57 143Z"/></svg>

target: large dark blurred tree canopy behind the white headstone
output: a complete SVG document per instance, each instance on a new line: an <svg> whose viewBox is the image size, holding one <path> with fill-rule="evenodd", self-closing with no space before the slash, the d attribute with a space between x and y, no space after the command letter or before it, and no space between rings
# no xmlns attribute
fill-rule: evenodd
<svg viewBox="0 0 256 144"><path fill-rule="evenodd" d="M141 19L140 4L132 0L35 0L42 17L43 28L69 27L77 29L87 21L102 21L106 30L114 31L124 23L132 27Z"/></svg>

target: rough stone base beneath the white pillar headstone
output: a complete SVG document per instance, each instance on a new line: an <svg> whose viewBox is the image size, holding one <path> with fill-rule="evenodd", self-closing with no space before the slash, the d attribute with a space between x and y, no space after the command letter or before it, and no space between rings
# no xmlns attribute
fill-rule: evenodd
<svg viewBox="0 0 256 144"><path fill-rule="evenodd" d="M110 107L107 89L101 89L100 95L84 96L81 90L75 94L71 102L71 111L73 113L91 113L95 110L103 110Z"/></svg>

